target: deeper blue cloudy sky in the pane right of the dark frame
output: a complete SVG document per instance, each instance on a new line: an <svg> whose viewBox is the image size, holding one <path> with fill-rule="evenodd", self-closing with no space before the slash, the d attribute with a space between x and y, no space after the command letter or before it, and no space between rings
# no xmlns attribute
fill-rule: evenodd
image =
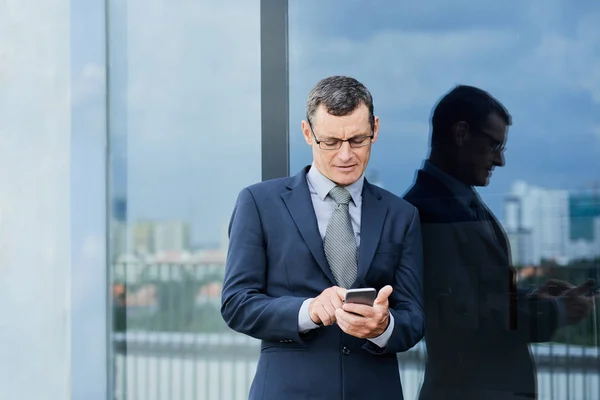
<svg viewBox="0 0 600 400"><path fill-rule="evenodd" d="M412 182L427 155L431 110L458 83L489 91L514 117L509 162L486 189L489 196L506 193L516 178L557 188L598 178L591 166L600 145L590 128L599 122L597 3L429 2L407 8L387 2L338 10L324 2L318 13L313 3L291 6L292 126L319 79L356 77L373 93L385 127L371 163L389 189L403 193ZM293 169L310 156L299 143L292 138ZM501 197L491 199L499 215Z"/></svg>

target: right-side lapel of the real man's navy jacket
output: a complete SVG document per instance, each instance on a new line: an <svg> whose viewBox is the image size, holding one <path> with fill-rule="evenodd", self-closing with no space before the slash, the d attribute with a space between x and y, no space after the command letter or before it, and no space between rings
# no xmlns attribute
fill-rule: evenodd
<svg viewBox="0 0 600 400"><path fill-rule="evenodd" d="M362 195L357 282L361 281L361 278L367 274L375 250L379 245L383 223L388 211L387 206L380 200L381 196L374 192L372 185L365 179Z"/></svg>

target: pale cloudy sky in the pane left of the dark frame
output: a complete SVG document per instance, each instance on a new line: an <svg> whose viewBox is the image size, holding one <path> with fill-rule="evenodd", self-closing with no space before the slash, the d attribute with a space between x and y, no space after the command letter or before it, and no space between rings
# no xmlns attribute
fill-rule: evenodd
<svg viewBox="0 0 600 400"><path fill-rule="evenodd" d="M195 239L220 239L239 190L261 178L258 3L134 1L120 17L110 90L126 98L113 123L127 132L128 214L190 219Z"/></svg>

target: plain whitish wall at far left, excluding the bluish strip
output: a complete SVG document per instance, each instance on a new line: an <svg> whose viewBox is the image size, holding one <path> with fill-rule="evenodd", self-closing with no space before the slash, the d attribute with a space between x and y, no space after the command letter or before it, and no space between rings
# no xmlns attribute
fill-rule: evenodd
<svg viewBox="0 0 600 400"><path fill-rule="evenodd" d="M0 2L0 392L70 391L70 2Z"/></svg>

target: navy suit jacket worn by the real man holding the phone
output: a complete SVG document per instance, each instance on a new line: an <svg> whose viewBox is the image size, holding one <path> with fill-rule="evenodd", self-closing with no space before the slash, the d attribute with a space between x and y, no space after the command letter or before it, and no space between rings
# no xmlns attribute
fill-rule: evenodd
<svg viewBox="0 0 600 400"><path fill-rule="evenodd" d="M402 399L397 352L422 339L422 246L416 209L363 187L358 278L353 287L391 284L388 345L337 325L298 333L302 302L334 286L306 172L241 191L230 223L221 313L234 330L262 341L250 399Z"/></svg>

